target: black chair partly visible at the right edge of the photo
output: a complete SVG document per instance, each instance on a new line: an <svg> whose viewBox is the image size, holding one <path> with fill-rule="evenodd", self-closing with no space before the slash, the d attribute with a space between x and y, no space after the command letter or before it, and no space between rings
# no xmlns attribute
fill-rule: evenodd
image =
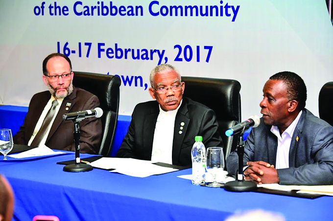
<svg viewBox="0 0 333 221"><path fill-rule="evenodd" d="M326 83L319 92L319 117L333 126L333 81Z"/></svg>

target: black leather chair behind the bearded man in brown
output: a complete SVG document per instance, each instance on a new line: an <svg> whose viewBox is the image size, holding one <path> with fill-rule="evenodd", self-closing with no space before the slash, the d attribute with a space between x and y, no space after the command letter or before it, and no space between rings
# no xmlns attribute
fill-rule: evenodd
<svg viewBox="0 0 333 221"><path fill-rule="evenodd" d="M116 133L120 78L113 75L74 71L73 85L95 94L103 110L102 142L98 154L109 156Z"/></svg>

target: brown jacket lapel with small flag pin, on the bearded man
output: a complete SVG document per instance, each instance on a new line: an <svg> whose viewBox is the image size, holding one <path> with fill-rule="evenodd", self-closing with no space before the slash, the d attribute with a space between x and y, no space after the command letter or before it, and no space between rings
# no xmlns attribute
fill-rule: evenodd
<svg viewBox="0 0 333 221"><path fill-rule="evenodd" d="M75 104L75 100L73 100L75 98L76 98L76 88L73 89L73 92L69 96L67 96L67 97L64 98L64 100L63 100L63 102L61 104L61 107L60 107L60 109L58 111L58 114L57 114L57 116L55 117L55 119L53 121L53 124L52 124L52 127L50 129L50 132L48 133L48 138L46 139L45 143L48 142L48 140L52 137L52 135L54 134L54 132L60 126L61 122L63 121L63 118L62 118L63 114L64 113L68 113L68 112L71 111L71 108ZM71 103L71 106L70 107L66 106L67 103ZM68 110L66 110L66 108L68 108ZM74 131L74 129L73 129L73 131Z"/></svg>

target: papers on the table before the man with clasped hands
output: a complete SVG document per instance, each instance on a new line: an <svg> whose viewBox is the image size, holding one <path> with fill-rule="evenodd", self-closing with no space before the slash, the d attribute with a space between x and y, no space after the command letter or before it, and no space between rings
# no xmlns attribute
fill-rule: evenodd
<svg viewBox="0 0 333 221"><path fill-rule="evenodd" d="M309 194L321 194L321 195L333 196L333 185L298 186L298 185L280 185L277 183L272 183L272 184L261 184L257 186L272 190L280 190L280 191L299 190L297 191L297 193L309 193Z"/></svg>

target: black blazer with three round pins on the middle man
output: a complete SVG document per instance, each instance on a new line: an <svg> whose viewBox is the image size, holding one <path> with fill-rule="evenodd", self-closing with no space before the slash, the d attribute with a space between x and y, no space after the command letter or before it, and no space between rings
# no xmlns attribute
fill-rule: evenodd
<svg viewBox="0 0 333 221"><path fill-rule="evenodd" d="M128 132L116 157L151 160L155 125L160 109L157 101L138 104L132 114ZM183 130L180 130L184 122ZM189 166L195 136L202 136L205 147L223 147L217 132L218 124L213 110L183 97L173 132L172 164ZM183 133L179 133L182 131Z"/></svg>

